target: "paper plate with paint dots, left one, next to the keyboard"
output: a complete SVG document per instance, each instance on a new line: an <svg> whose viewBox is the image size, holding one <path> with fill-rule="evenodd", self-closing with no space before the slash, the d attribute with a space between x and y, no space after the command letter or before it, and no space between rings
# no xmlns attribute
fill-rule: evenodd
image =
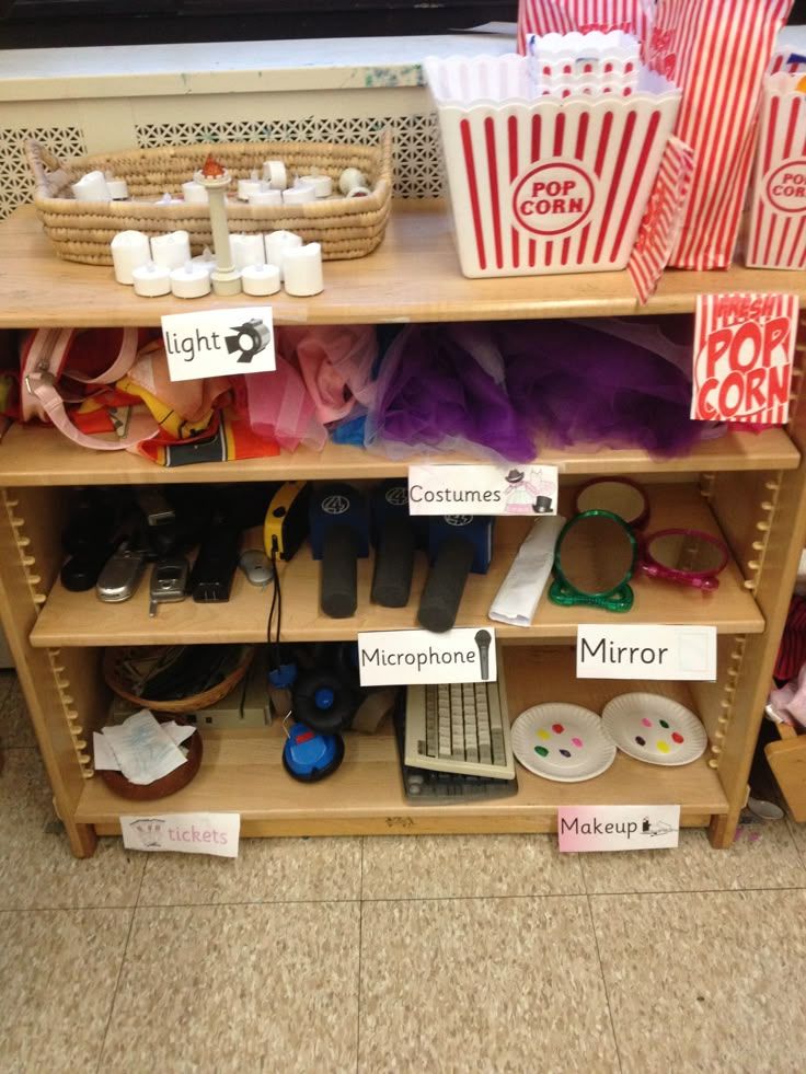
<svg viewBox="0 0 806 1074"><path fill-rule="evenodd" d="M615 760L615 743L601 717L579 705L534 705L513 724L513 753L525 769L557 783L582 783Z"/></svg>

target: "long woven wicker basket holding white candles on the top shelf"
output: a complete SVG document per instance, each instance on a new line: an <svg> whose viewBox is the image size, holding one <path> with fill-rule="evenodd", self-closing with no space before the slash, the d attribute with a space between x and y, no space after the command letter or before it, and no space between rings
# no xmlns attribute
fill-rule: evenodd
<svg viewBox="0 0 806 1074"><path fill-rule="evenodd" d="M364 257L380 245L392 200L392 135L384 130L378 146L339 146L333 142L221 142L165 146L120 153L99 153L61 164L36 141L25 153L36 180L34 205L45 232L65 261L111 265L110 243L119 231L160 235L187 231L191 249L200 254L212 246L206 205L158 205L154 201L77 201L70 189L89 171L112 172L126 180L133 198L181 195L182 184L204 164L208 153L237 180L260 172L265 160L283 160L289 174L330 175L337 189L345 168L358 168L370 194L359 198L324 198L295 206L228 205L230 232L292 231L304 242L319 242L325 261Z"/></svg>

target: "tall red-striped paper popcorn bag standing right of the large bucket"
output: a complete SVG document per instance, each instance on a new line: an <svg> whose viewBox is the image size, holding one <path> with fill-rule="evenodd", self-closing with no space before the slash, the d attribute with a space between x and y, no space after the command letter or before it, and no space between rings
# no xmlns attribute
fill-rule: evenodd
<svg viewBox="0 0 806 1074"><path fill-rule="evenodd" d="M694 172L670 264L726 268L756 146L761 83L792 0L658 0L647 62L682 86L675 134Z"/></svg>

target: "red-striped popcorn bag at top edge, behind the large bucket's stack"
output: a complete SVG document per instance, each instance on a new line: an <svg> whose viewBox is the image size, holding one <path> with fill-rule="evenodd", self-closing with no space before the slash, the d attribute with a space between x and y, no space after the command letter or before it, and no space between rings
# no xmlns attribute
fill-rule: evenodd
<svg viewBox="0 0 806 1074"><path fill-rule="evenodd" d="M621 30L646 41L652 28L655 0L520 0L518 51L526 55L530 34L588 34Z"/></svg>

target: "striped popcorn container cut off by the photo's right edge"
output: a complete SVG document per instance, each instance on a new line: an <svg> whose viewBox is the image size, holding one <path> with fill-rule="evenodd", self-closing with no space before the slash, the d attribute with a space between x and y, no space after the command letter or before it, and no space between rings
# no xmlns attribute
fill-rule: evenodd
<svg viewBox="0 0 806 1074"><path fill-rule="evenodd" d="M806 268L806 93L803 74L764 83L745 261L755 268Z"/></svg>

